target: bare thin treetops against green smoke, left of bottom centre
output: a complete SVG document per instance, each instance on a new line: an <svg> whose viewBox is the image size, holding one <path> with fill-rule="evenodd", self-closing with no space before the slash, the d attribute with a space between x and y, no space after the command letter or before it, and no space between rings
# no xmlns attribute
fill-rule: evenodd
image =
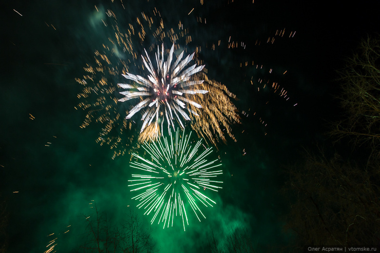
<svg viewBox="0 0 380 253"><path fill-rule="evenodd" d="M106 213L86 217L86 240L80 251L85 253L153 253L152 232L144 229L140 217L133 210L120 228L111 225Z"/></svg>

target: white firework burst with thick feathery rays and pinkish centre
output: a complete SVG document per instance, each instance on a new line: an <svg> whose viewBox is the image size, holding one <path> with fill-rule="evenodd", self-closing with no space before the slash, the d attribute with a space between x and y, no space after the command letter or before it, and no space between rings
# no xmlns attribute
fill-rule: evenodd
<svg viewBox="0 0 380 253"><path fill-rule="evenodd" d="M202 105L191 99L191 95L209 92L194 88L202 84L204 80L197 80L193 75L200 72L205 65L197 66L197 64L194 64L187 67L187 64L194 57L194 53L182 59L183 51L172 63L174 44L171 46L169 56L164 61L164 44L162 44L161 52L157 47L157 53L155 54L156 67L154 68L147 51L145 49L144 51L146 58L144 56L141 56L141 58L149 72L147 78L126 73L126 75L123 74L123 77L132 80L133 84L117 84L119 87L128 90L120 92L125 96L119 99L120 102L140 98L140 102L129 111L126 118L129 119L137 112L145 110L141 117L143 124L140 133L152 123L161 125L162 129L165 119L168 129L170 126L174 128L176 120L184 128L183 119L190 120L191 114L199 116L191 110L188 104L202 108Z"/></svg>

